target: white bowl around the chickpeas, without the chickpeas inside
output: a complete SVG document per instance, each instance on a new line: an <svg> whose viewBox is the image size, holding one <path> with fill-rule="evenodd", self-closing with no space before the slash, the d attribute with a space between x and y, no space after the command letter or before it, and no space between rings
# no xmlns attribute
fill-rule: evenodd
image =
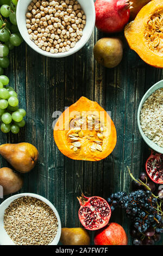
<svg viewBox="0 0 163 256"><path fill-rule="evenodd" d="M32 0L18 0L16 18L17 18L18 29L24 41L26 41L27 44L31 48L33 48L33 50L35 50L36 52L44 56L53 57L53 58L67 57L79 51L89 40L93 32L93 28L95 27L95 19L96 19L95 4L93 0L78 0L79 4L81 5L86 15L86 25L83 29L82 38L77 42L77 44L73 48L70 49L70 51L64 52L64 53L50 53L50 52L43 51L41 48L36 46L32 40L29 39L29 34L26 28L26 13L27 13L27 8L30 2L32 2Z"/></svg>

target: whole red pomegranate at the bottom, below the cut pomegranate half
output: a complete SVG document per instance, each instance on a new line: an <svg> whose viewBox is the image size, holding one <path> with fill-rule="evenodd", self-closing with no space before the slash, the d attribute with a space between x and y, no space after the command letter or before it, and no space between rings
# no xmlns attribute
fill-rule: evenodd
<svg viewBox="0 0 163 256"><path fill-rule="evenodd" d="M95 245L127 245L126 232L120 224L109 223L106 227L98 230L95 234Z"/></svg>

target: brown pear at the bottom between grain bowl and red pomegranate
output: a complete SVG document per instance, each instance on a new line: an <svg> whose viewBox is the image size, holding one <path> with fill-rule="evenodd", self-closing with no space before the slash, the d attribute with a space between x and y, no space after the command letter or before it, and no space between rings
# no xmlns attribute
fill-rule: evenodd
<svg viewBox="0 0 163 256"><path fill-rule="evenodd" d="M60 242L63 245L90 245L90 236L84 228L62 228Z"/></svg>

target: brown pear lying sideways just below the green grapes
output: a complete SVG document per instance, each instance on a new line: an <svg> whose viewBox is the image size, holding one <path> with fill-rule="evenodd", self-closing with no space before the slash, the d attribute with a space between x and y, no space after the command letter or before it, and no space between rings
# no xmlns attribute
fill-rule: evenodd
<svg viewBox="0 0 163 256"><path fill-rule="evenodd" d="M15 170L28 173L36 164L38 151L30 143L3 144L0 146L0 154Z"/></svg>

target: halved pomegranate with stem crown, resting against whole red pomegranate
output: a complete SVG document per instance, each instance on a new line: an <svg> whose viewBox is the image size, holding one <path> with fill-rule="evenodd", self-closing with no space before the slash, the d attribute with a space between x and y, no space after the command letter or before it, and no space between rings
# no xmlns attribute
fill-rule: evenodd
<svg viewBox="0 0 163 256"><path fill-rule="evenodd" d="M79 220L84 228L97 230L108 224L111 216L111 209L105 199L101 197L78 198L80 203Z"/></svg>

